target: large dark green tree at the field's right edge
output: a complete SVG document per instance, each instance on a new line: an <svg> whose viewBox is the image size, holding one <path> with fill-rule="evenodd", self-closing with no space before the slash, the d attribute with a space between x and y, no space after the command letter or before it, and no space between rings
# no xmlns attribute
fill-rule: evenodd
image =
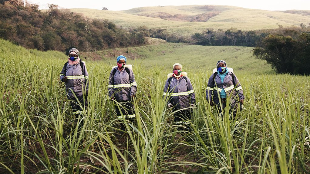
<svg viewBox="0 0 310 174"><path fill-rule="evenodd" d="M269 35L262 40L254 55L265 60L278 73L310 74L310 34L303 33L297 39L290 36ZM308 62L308 63L307 63Z"/></svg>

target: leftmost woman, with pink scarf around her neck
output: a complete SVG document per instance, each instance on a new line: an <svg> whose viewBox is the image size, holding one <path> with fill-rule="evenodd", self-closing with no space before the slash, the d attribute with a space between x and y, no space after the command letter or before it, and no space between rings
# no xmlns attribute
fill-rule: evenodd
<svg viewBox="0 0 310 174"><path fill-rule="evenodd" d="M60 73L60 81L65 84L65 91L72 106L72 113L76 119L80 116L85 116L88 106L88 72L85 62L82 62L78 56L78 49L70 49L68 62L64 64ZM82 121L79 127L83 123Z"/></svg>

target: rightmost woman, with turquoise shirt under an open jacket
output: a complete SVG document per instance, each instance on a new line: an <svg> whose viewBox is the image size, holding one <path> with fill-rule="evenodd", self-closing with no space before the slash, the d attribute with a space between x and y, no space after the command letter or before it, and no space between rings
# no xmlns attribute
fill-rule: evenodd
<svg viewBox="0 0 310 174"><path fill-rule="evenodd" d="M218 61L216 63L216 68L217 71L210 76L208 81L206 99L211 106L215 103L219 113L224 116L222 109L226 107L228 102L227 99L229 98L229 113L232 112L233 117L235 117L237 114L237 95L241 104L243 104L244 100L241 84L236 75L228 70L224 60Z"/></svg>

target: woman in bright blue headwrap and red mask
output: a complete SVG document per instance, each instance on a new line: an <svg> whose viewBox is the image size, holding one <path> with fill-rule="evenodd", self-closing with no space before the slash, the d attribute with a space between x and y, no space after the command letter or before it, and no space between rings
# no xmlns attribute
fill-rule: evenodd
<svg viewBox="0 0 310 174"><path fill-rule="evenodd" d="M131 122L135 119L133 99L137 91L135 76L130 68L125 67L127 58L123 55L117 57L117 67L110 73L108 95L111 100L117 101L115 111L118 119L125 118ZM124 124L121 129L125 130Z"/></svg>

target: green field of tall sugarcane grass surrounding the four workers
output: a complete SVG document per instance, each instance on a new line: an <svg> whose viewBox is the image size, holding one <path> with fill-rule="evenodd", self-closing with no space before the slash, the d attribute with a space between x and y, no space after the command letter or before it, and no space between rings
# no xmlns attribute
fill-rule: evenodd
<svg viewBox="0 0 310 174"><path fill-rule="evenodd" d="M126 124L126 133L117 130L107 99L113 51L81 53L90 104L78 133L59 81L66 55L0 40L0 173L309 173L309 76L275 74L252 49L171 43L116 49L133 65L138 84L137 123ZM205 99L221 59L246 97L231 122ZM177 130L162 100L175 62L196 94L189 131Z"/></svg>

